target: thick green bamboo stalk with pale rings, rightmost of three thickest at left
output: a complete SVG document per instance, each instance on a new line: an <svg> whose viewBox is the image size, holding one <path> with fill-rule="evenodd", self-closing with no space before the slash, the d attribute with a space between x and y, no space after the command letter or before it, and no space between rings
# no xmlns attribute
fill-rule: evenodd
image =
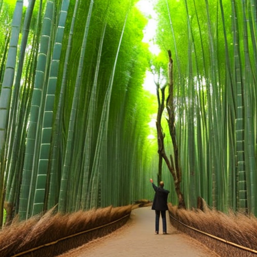
<svg viewBox="0 0 257 257"><path fill-rule="evenodd" d="M36 181L36 195L34 199L34 207L32 215L41 213L47 210L47 200L45 195L48 195L48 185L47 176L49 170L49 158L50 158L50 148L53 130L53 115L54 115L54 103L55 94L57 87L57 75L59 71L59 63L62 51L62 41L64 36L64 29L66 24L67 12L69 8L70 1L63 0L58 27L55 35L52 61L50 65L50 75L48 78L47 94L45 98L45 108L43 114L43 126L41 135L41 146L40 146L40 156L38 164L38 176Z"/></svg>

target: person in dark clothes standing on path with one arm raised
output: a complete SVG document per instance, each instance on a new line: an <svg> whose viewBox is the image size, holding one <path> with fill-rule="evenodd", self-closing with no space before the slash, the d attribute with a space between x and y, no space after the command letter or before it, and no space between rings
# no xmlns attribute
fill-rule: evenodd
<svg viewBox="0 0 257 257"><path fill-rule="evenodd" d="M162 215L163 221L163 233L167 234L167 223L166 223L166 210L168 210L167 199L169 190L164 189L164 182L161 181L159 187L154 184L153 179L150 179L152 186L155 190L154 201L152 210L155 210L155 233L159 234L159 221L160 214Z"/></svg>

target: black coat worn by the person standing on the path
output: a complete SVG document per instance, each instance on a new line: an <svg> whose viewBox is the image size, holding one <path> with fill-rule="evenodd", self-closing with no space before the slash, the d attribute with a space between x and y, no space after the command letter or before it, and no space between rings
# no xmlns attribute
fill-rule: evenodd
<svg viewBox="0 0 257 257"><path fill-rule="evenodd" d="M168 210L167 198L170 191L162 187L157 187L154 183L152 183L152 185L155 190L155 197L152 205L152 210L158 210L158 211Z"/></svg>

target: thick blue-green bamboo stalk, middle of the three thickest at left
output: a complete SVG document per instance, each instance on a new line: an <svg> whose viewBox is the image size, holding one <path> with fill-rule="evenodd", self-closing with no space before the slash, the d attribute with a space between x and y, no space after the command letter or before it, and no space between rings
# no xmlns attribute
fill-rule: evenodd
<svg viewBox="0 0 257 257"><path fill-rule="evenodd" d="M40 51L35 74L35 86L32 95L32 103L30 110L30 122L26 140L26 153L24 160L23 179L20 195L19 216L21 219L28 218L31 215L29 208L31 207L31 198L34 198L33 186L34 179L37 174L37 158L38 158L38 137L41 130L41 108L42 94L45 88L46 70L48 66L48 58L50 54L51 33L52 33L52 17L54 3L49 0L46 6L45 17L43 19L42 35L40 39ZM40 176L40 175L39 175ZM37 194L35 194L37 198Z"/></svg>

